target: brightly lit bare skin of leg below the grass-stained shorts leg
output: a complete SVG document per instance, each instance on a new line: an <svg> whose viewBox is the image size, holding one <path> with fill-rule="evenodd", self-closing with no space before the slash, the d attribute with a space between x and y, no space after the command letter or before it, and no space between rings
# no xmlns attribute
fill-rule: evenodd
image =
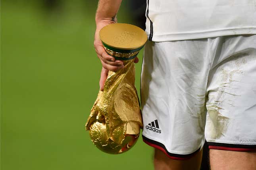
<svg viewBox="0 0 256 170"><path fill-rule="evenodd" d="M211 170L255 170L256 153L210 149Z"/></svg>

